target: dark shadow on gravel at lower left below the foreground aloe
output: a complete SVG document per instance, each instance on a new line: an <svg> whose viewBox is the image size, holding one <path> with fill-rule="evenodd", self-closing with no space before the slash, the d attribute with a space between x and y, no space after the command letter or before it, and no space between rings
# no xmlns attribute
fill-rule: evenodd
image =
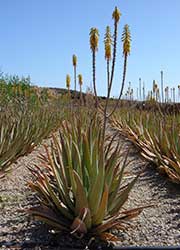
<svg viewBox="0 0 180 250"><path fill-rule="evenodd" d="M17 220L7 222L17 224ZM6 223L6 224L7 224ZM3 225L7 226L7 225ZM94 238L84 237L75 238L65 233L54 233L51 228L40 222L26 221L22 228L17 231L1 233L0 236L9 235L12 240L0 242L0 247L9 249L113 249L107 242L95 240Z"/></svg>

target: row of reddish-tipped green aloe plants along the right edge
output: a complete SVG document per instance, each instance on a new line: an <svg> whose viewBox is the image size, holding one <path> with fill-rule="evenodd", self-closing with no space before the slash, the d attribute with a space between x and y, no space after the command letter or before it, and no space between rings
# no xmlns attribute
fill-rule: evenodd
<svg viewBox="0 0 180 250"><path fill-rule="evenodd" d="M173 182L180 183L180 115L121 109L111 123Z"/></svg>

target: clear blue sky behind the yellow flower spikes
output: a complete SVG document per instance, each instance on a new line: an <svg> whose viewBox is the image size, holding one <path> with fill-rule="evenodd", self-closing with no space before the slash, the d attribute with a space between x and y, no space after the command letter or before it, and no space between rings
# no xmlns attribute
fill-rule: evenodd
<svg viewBox="0 0 180 250"><path fill-rule="evenodd" d="M128 59L126 87L138 79L150 89L160 82L180 84L180 0L0 0L0 69L19 76L30 75L39 86L65 87L66 74L73 80L72 55L78 57L83 90L92 82L89 30L97 27L98 94L106 93L105 27L113 30L112 11L121 13L117 64L112 95L117 96L122 78L121 33L131 29L132 51ZM72 88L74 84L72 82Z"/></svg>

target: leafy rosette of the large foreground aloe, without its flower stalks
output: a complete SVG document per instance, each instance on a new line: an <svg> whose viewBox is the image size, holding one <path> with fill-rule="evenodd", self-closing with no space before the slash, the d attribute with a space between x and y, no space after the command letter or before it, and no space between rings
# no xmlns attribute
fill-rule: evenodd
<svg viewBox="0 0 180 250"><path fill-rule="evenodd" d="M120 147L113 147L113 139L104 147L97 117L86 126L73 120L73 125L63 123L59 136L53 135L50 148L45 146L42 167L31 168L37 180L29 185L38 193L40 205L29 212L78 237L87 232L101 235L142 210L120 211L137 177L124 185L127 157L120 160Z"/></svg>

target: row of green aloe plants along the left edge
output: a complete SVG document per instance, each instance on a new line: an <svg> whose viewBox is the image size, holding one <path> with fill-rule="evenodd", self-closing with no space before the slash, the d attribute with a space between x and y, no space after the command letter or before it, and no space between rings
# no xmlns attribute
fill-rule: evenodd
<svg viewBox="0 0 180 250"><path fill-rule="evenodd" d="M57 110L41 108L36 112L16 114L0 113L0 171L4 175L10 165L26 155L58 126Z"/></svg>

